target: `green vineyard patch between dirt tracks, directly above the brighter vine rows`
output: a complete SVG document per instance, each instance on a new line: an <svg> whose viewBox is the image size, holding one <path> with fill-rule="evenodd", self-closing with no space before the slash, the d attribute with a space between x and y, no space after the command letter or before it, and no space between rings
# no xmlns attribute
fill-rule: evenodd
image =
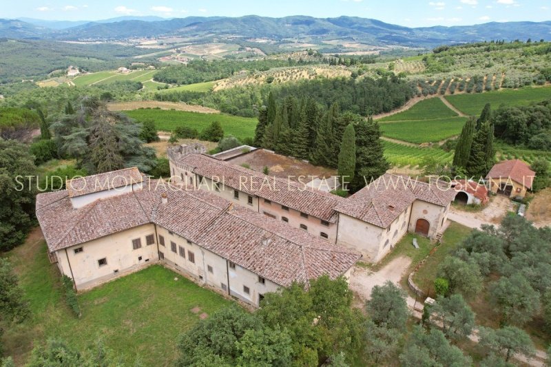
<svg viewBox="0 0 551 367"><path fill-rule="evenodd" d="M379 125L383 136L420 144L435 143L450 138L450 136L459 135L466 120L466 117L450 117L434 120L397 121Z"/></svg>

